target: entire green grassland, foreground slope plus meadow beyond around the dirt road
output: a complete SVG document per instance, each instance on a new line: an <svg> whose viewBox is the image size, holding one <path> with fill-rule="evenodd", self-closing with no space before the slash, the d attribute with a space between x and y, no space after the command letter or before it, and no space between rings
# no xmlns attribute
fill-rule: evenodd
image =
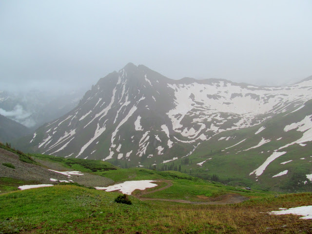
<svg viewBox="0 0 312 234"><path fill-rule="evenodd" d="M126 205L114 202L120 195L117 192L68 183L19 191L18 186L36 184L36 181L2 177L0 234L312 233L311 219L267 213L279 208L312 205L312 193L282 194L254 188L249 191L177 171L120 169L108 162L42 155L32 155L32 158L105 176L115 183L148 179L156 180L158 186L144 192L134 191L133 196L129 196L132 205ZM159 190L161 188L163 190ZM236 204L207 203L227 195L245 196L248 200ZM192 204L175 202L177 199Z"/></svg>

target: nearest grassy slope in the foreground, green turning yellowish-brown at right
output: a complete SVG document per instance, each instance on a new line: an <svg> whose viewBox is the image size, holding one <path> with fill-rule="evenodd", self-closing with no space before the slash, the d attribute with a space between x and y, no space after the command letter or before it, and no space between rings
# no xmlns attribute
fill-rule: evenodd
<svg viewBox="0 0 312 234"><path fill-rule="evenodd" d="M0 195L0 233L311 233L311 220L266 212L311 205L311 193L234 205L114 202L117 193L56 185Z"/></svg>

